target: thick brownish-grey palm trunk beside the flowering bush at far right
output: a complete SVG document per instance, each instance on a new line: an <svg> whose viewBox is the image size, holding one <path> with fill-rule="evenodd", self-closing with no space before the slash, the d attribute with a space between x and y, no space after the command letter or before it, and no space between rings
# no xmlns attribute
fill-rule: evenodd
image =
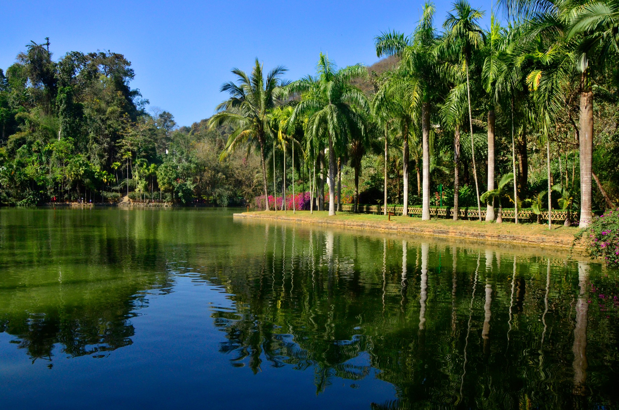
<svg viewBox="0 0 619 410"><path fill-rule="evenodd" d="M582 75L583 77L585 74ZM581 92L580 101L580 165L581 165L581 218L580 227L591 224L591 163L593 157L593 93Z"/></svg>

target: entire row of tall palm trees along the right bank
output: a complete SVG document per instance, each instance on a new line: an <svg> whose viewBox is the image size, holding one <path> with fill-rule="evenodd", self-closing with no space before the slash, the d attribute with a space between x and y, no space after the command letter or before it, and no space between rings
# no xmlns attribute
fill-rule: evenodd
<svg viewBox="0 0 619 410"><path fill-rule="evenodd" d="M571 121L578 136L581 219L591 221L592 180L592 72L604 71L618 48L619 2L565 0L500 0L511 20L501 27L491 15L489 30L478 21L483 11L467 0L453 4L443 24L435 27L435 7L426 3L412 35L384 32L375 38L377 56L396 56L392 70L373 76L374 93L364 94L355 80L368 76L360 64L337 68L321 53L315 76L298 81L282 79L283 66L264 76L256 59L251 74L233 69L237 81L222 85L230 97L217 107L210 126L230 124L234 132L222 153L240 146L259 149L262 185L267 194L267 155L275 160L275 147L297 147L297 158L311 164L311 192L316 191L316 167L328 165L329 215L334 215L335 178L341 164L350 161L355 169L355 203L358 204L358 172L361 158L371 141L384 140L385 159L389 142L402 143L404 209L409 207L410 147L415 164L422 164L422 219L430 219L431 145L438 134L454 141L454 219L458 218L459 161L461 133L470 134L470 149L481 220L482 196L475 159L473 107L487 111L487 220L494 220L495 199L500 201L504 186L513 180L513 201L517 223L517 170L514 133L535 133L545 144L548 160L548 204L550 207L550 139L556 123L565 115L566 100L579 94L579 123ZM594 66L594 64L597 64ZM472 90L475 90L472 93ZM495 185L495 121L503 116L511 128L512 172ZM420 149L418 149L420 147ZM421 154L421 155L418 155ZM327 159L325 156L328 155ZM420 158L419 158L420 156ZM285 157L284 157L285 159ZM325 164L325 160L327 164ZM298 161L298 159L297 159ZM295 168L292 158L292 167ZM274 162L275 167L275 162ZM285 165L284 165L285 170ZM285 172L284 172L285 175ZM385 168L385 188L387 175ZM564 189L565 191L565 189ZM337 195L339 198L340 195ZM385 190L385 205L387 202ZM269 203L266 201L266 210ZM386 212L386 209L385 209Z"/></svg>

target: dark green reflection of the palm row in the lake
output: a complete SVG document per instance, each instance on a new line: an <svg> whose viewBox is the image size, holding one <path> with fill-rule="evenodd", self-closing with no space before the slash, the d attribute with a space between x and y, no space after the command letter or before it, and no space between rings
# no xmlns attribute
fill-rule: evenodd
<svg viewBox="0 0 619 410"><path fill-rule="evenodd" d="M311 370L318 392L334 377L360 380L376 369L375 377L397 390L394 401L374 403L376 409L474 408L482 403L488 408L563 408L571 407L574 386L584 385L586 285L576 262L560 260L551 275L549 258L510 255L506 249L444 248L328 230L293 233L289 227L277 232L279 241L284 235L297 251L285 260L272 252L262 259L289 266L294 279L248 272L217 281L230 284L226 289L237 306L235 319L221 326L227 339L221 351L232 355L235 366L256 371L264 360ZM264 240L273 241L274 233ZM485 271L480 269L482 254ZM503 269L502 258L513 263ZM441 272L439 264L449 259L451 271ZM615 286L617 273L597 275L597 280ZM279 294L265 286L271 281L279 284ZM579 295L576 328L569 312L574 294ZM409 298L418 302L406 303ZM596 327L612 329L595 334L602 358L617 334L617 315L596 315L595 321ZM352 360L359 357L366 363ZM573 366L568 366L571 357ZM607 387L612 384L610 362L616 365L617 358L597 362L597 371L605 375L600 383ZM611 388L597 392L587 396L591 403L617 399Z"/></svg>

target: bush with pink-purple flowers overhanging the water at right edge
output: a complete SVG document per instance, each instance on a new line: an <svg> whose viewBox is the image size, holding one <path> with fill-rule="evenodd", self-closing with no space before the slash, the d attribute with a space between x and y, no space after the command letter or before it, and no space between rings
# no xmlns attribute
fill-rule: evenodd
<svg viewBox="0 0 619 410"><path fill-rule="evenodd" d="M587 229L576 234L574 242L584 238L589 256L603 258L611 268L619 266L619 208L595 217Z"/></svg>

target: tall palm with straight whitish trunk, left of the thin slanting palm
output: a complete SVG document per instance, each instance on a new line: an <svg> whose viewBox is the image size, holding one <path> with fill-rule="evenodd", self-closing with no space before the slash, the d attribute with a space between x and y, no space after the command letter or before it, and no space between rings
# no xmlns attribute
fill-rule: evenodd
<svg viewBox="0 0 619 410"><path fill-rule="evenodd" d="M423 149L423 202L422 219L430 219L430 111L439 89L434 48L438 37L433 24L435 7L430 2L423 6L422 19L411 37L397 32L376 37L376 54L397 55L402 58L399 71L405 86L405 97L415 119L421 120ZM420 114L419 114L420 113ZM407 139L404 140L407 143ZM407 162L407 155L404 162ZM405 185L406 187L406 185ZM407 189L407 188L406 188Z"/></svg>

